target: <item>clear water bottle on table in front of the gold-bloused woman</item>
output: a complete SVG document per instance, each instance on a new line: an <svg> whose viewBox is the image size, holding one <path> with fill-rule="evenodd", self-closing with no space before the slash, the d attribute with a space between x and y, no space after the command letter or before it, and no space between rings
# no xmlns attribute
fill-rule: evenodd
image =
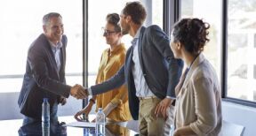
<svg viewBox="0 0 256 136"><path fill-rule="evenodd" d="M105 122L106 117L101 108L99 108L98 113L96 114L96 135L103 136L105 135Z"/></svg>

